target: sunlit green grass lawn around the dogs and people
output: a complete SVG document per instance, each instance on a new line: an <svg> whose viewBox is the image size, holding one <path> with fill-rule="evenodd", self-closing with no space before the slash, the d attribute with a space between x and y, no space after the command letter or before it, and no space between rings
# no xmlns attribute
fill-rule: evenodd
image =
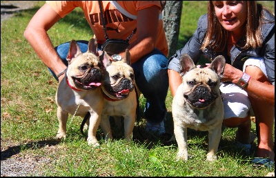
<svg viewBox="0 0 276 178"><path fill-rule="evenodd" d="M32 15L43 3L1 22L1 152L10 150L22 158L32 155L48 159L49 162L39 167L43 176L264 176L274 172L274 168L253 167L250 159L254 152L245 155L233 146L236 128L223 128L219 160L214 163L205 161L207 132L195 130L188 130L191 157L186 162L175 160L176 143L166 146L153 135L146 141L136 139L126 143L121 139L121 132L117 132L115 141L106 143L101 139L103 134L99 128L97 136L101 146L92 148L79 132L81 118L72 118L72 115L68 118L66 139L55 140L59 125L55 104L58 84L23 37ZM264 3L274 11L273 1ZM205 12L206 1L184 1L179 48L193 35L197 19ZM48 34L54 46L72 39L92 37L79 9L61 19ZM168 91L166 130L172 133L171 102ZM144 103L145 99L141 97L141 107ZM144 124L142 119L142 134L145 134ZM133 137L139 138L137 130L136 124ZM252 132L255 133L254 123ZM30 172L30 175L35 174Z"/></svg>

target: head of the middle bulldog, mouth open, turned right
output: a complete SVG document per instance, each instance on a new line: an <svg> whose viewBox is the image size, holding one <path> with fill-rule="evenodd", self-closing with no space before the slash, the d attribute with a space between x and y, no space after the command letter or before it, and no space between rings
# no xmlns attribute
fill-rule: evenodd
<svg viewBox="0 0 276 178"><path fill-rule="evenodd" d="M110 98L124 99L135 87L134 70L130 66L130 53L121 61L109 61L104 65L103 92Z"/></svg>

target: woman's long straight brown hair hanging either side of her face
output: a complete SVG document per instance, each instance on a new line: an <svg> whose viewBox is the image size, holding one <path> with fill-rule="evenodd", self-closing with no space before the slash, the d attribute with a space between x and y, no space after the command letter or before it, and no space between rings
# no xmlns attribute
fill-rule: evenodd
<svg viewBox="0 0 276 178"><path fill-rule="evenodd" d="M262 32L261 25L264 23L264 14L262 10L265 9L268 12L267 8L264 8L261 4L258 4L256 1L246 1L247 3L247 19L244 23L244 30L246 39L239 46L244 50L248 48L257 48L262 47ZM273 14L273 12L270 12ZM274 14L273 14L274 15ZM216 52L221 52L226 46L226 40L228 36L228 31L225 30L219 23L215 15L215 7L213 1L208 2L208 26L207 32L204 37L204 42L201 46L201 50L213 49Z"/></svg>

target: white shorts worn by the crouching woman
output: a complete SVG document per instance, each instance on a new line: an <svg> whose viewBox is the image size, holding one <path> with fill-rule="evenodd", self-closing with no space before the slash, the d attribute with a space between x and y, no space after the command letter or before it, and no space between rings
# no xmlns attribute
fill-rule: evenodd
<svg viewBox="0 0 276 178"><path fill-rule="evenodd" d="M244 63L243 72L246 66L256 66L266 75L263 57L250 57L247 59ZM229 82L221 82L219 89L221 90L221 97L224 102L224 119L229 119L231 117L244 118L248 115L251 103L246 91L242 90L242 88L239 88L234 83Z"/></svg>

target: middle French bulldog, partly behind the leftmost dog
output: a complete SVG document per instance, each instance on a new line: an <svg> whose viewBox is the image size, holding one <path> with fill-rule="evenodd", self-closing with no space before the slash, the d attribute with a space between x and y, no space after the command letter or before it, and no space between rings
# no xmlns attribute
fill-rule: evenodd
<svg viewBox="0 0 276 178"><path fill-rule="evenodd" d="M104 79L101 85L103 92L103 112L101 113L101 129L106 140L112 139L110 121L108 117L114 117L115 123L120 123L120 117L124 117L124 138L132 140L132 130L135 125L137 98L135 91L134 70L130 66L130 52L126 50L125 56L119 61L103 63Z"/></svg>

